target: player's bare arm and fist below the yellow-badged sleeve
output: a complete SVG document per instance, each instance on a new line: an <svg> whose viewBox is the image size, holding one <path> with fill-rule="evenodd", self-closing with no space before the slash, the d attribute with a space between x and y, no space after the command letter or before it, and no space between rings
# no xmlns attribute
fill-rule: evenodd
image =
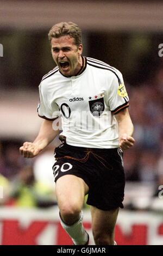
<svg viewBox="0 0 163 256"><path fill-rule="evenodd" d="M135 139L132 137L134 126L128 109L123 109L121 112L117 113L115 117L118 122L119 147L122 150L129 149L134 145Z"/></svg>

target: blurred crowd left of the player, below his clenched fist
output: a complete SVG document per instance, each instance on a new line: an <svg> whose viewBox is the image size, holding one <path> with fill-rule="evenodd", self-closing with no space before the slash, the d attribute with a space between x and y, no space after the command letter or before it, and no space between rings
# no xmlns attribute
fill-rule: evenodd
<svg viewBox="0 0 163 256"><path fill-rule="evenodd" d="M19 154L19 147L9 143L4 154L3 150L0 154L0 185L3 187L0 205L24 208L56 205L51 147L40 153L37 159L24 159Z"/></svg>

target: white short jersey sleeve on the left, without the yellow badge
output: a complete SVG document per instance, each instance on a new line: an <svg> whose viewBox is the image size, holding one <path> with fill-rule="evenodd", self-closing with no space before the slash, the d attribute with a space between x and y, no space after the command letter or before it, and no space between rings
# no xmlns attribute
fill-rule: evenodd
<svg viewBox="0 0 163 256"><path fill-rule="evenodd" d="M42 86L39 86L39 105L37 106L37 112L39 117L47 120L55 120L60 115L60 109L57 103L52 102L46 92L43 92Z"/></svg>

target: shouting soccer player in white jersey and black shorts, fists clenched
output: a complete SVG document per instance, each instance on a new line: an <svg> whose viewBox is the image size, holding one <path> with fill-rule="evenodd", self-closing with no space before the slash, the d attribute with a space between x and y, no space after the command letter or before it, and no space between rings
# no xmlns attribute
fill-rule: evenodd
<svg viewBox="0 0 163 256"><path fill-rule="evenodd" d="M44 118L35 141L20 148L34 157L58 135L53 166L62 227L73 245L87 245L82 207L88 194L96 245L116 245L114 229L123 208L122 150L133 146L129 98L120 71L101 60L82 56L80 28L72 22L54 25L48 34L57 64L43 76L37 108ZM53 127L52 127L53 123ZM55 126L55 127L54 127Z"/></svg>

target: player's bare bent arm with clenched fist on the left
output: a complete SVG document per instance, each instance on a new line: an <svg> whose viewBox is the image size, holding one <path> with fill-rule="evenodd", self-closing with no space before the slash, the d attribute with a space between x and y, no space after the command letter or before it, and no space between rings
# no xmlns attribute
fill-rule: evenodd
<svg viewBox="0 0 163 256"><path fill-rule="evenodd" d="M23 157L31 158L38 155L42 149L46 148L53 141L58 135L59 130L53 130L52 123L53 121L44 120L34 142L23 143L23 146L20 147L20 154Z"/></svg>

